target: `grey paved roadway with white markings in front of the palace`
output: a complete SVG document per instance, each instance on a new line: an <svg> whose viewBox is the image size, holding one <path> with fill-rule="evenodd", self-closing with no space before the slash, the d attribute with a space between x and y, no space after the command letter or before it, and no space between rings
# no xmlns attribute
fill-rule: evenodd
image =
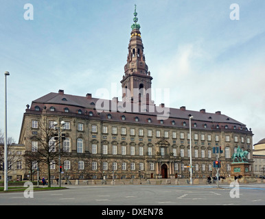
<svg viewBox="0 0 265 219"><path fill-rule="evenodd" d="M67 190L0 194L0 205L265 205L265 184L68 185Z"/></svg>

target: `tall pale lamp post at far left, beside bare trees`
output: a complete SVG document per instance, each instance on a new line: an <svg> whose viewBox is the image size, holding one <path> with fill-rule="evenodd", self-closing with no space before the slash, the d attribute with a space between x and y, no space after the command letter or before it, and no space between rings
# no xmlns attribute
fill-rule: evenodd
<svg viewBox="0 0 265 219"><path fill-rule="evenodd" d="M8 123L7 123L7 94L6 94L6 76L10 75L5 72L5 145L4 145L4 191L8 191Z"/></svg>

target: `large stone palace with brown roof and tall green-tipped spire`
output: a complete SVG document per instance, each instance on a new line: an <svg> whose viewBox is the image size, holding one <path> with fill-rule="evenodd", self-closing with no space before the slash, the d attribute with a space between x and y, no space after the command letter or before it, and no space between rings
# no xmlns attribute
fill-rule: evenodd
<svg viewBox="0 0 265 219"><path fill-rule="evenodd" d="M158 179L189 178L192 156L193 177L216 175L213 147L220 147L220 175L229 176L231 155L240 148L249 151L253 164L253 133L246 125L222 114L156 105L152 101L152 76L143 55L137 12L134 13L122 80L122 100L102 100L92 94L75 96L64 90L50 92L27 105L19 144L34 151L34 135L46 120L65 121L66 138L61 144L61 163L70 179ZM189 136L189 120L192 136ZM190 148L192 142L192 151ZM36 167L35 167L36 168ZM40 175L47 175L45 165ZM58 164L51 164L51 177L58 177ZM252 168L251 168L251 171Z"/></svg>

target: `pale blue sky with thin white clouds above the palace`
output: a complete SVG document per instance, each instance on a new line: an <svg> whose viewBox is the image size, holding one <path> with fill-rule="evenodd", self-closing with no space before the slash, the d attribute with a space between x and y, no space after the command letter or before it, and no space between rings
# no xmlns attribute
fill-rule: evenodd
<svg viewBox="0 0 265 219"><path fill-rule="evenodd" d="M121 88L137 4L157 105L221 111L265 138L265 1L0 1L0 129L8 70L8 136L19 140L25 106L49 93L95 97ZM24 19L24 5L34 20ZM230 19L238 3L240 20ZM109 96L111 99L113 96ZM119 98L121 99L121 98Z"/></svg>

